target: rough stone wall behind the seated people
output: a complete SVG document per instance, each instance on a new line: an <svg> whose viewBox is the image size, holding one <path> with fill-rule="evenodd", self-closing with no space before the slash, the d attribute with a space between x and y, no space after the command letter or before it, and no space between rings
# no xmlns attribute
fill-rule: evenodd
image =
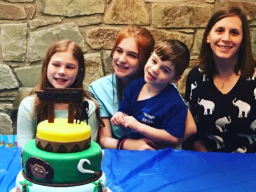
<svg viewBox="0 0 256 192"><path fill-rule="evenodd" d="M156 40L185 42L192 67L207 20L225 4L248 13L256 53L256 0L0 0L0 134L16 133L15 98L38 83L52 42L68 38L83 48L84 87L112 72L110 49L116 33L129 24L145 26ZM181 93L188 70L178 84Z"/></svg>

